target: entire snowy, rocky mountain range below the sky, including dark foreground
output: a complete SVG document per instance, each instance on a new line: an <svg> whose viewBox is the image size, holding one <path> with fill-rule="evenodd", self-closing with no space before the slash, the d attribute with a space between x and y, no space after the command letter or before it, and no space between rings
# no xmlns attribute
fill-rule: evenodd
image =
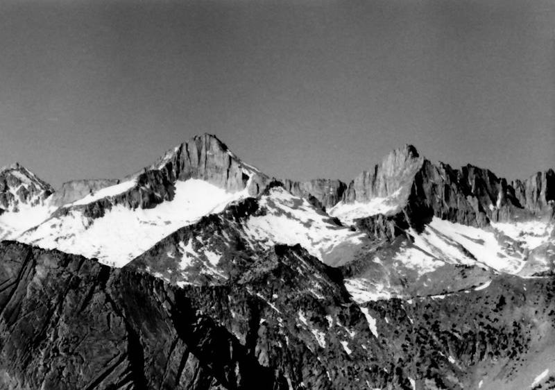
<svg viewBox="0 0 555 390"><path fill-rule="evenodd" d="M117 179L0 171L0 387L554 389L555 172L404 145L272 178L200 135Z"/></svg>

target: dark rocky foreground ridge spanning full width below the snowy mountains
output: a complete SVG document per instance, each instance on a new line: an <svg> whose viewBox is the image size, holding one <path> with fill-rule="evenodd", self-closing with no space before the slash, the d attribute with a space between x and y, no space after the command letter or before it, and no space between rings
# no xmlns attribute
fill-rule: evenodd
<svg viewBox="0 0 555 390"><path fill-rule="evenodd" d="M502 276L359 307L300 246L179 289L4 241L0 388L524 389L555 356L554 292L553 278Z"/></svg>

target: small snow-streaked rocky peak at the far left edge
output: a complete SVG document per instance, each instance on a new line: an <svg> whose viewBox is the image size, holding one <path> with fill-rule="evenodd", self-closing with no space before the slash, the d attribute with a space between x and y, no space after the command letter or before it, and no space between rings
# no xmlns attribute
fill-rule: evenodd
<svg viewBox="0 0 555 390"><path fill-rule="evenodd" d="M0 210L17 212L21 207L44 205L54 189L19 163L0 170Z"/></svg>

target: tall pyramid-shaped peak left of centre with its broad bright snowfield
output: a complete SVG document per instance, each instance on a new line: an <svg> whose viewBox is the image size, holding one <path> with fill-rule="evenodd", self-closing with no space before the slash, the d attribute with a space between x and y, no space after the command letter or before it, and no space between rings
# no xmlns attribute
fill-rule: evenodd
<svg viewBox="0 0 555 390"><path fill-rule="evenodd" d="M108 187L99 180L68 183L53 195L52 204L63 205L48 219L9 238L122 266L178 228L256 196L267 181L205 134Z"/></svg>

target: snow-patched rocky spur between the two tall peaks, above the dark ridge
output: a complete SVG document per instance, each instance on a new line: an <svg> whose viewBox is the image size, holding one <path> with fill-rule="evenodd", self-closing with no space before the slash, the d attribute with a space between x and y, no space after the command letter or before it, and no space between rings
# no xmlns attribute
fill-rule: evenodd
<svg viewBox="0 0 555 390"><path fill-rule="evenodd" d="M276 186L174 232L130 266L177 285L220 284L278 244L299 244L325 264L339 266L368 251L369 240Z"/></svg>

